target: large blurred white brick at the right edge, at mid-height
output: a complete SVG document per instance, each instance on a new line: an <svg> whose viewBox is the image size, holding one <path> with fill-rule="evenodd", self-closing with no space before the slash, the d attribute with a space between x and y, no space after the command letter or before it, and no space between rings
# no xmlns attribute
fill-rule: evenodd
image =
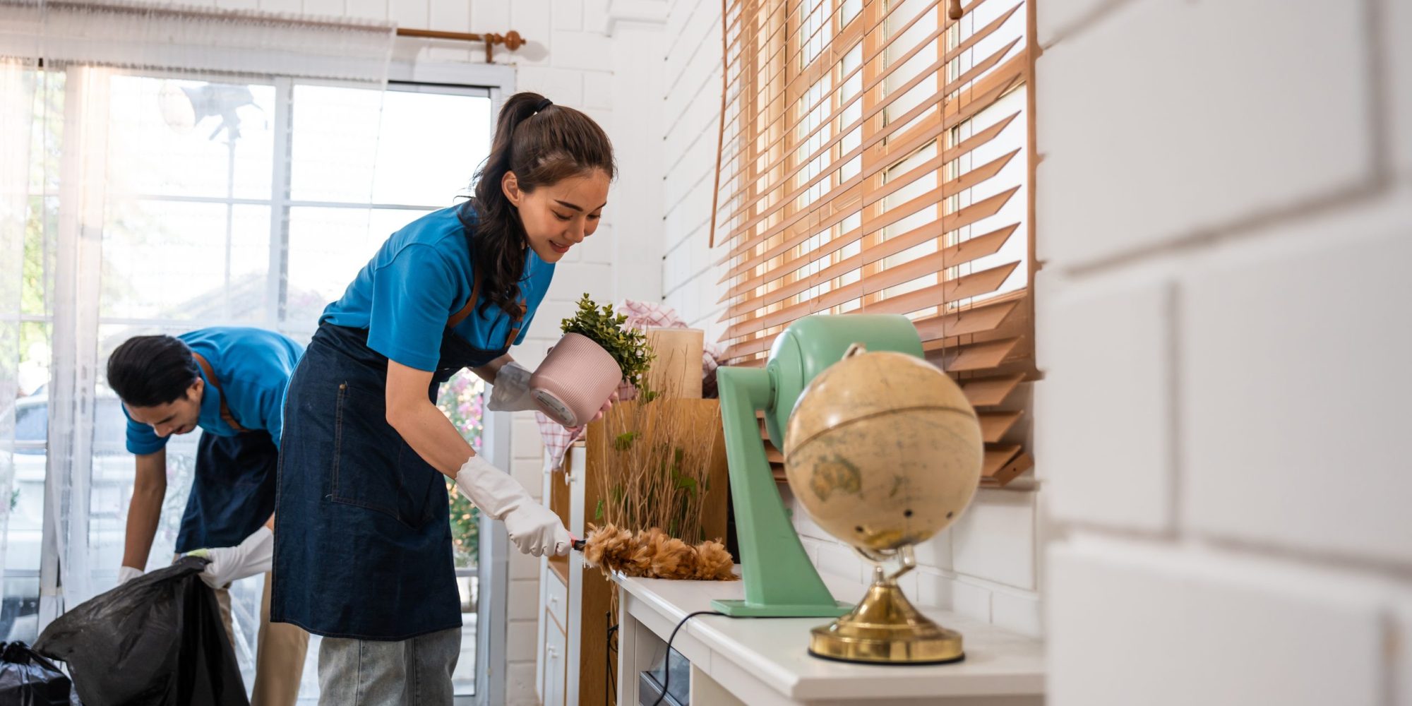
<svg viewBox="0 0 1412 706"><path fill-rule="evenodd" d="M1412 205L1241 246L1182 285L1185 520L1412 566Z"/></svg>

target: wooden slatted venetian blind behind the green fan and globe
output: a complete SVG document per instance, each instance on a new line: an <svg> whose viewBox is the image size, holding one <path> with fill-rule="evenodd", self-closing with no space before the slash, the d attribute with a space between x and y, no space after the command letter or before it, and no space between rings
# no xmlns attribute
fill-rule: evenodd
<svg viewBox="0 0 1412 706"><path fill-rule="evenodd" d="M980 414L987 486L1032 466L1032 1L723 0L730 363L810 313L904 313Z"/></svg>

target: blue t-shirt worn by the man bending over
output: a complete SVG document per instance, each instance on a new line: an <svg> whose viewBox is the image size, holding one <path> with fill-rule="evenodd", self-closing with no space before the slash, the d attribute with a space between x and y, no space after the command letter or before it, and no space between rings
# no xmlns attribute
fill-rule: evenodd
<svg viewBox="0 0 1412 706"><path fill-rule="evenodd" d="M220 400L225 397L236 424L246 429L264 429L278 445L284 428L284 388L304 347L273 330L236 326L196 329L176 337L210 363L210 370L220 383L220 390L216 390L206 380L206 371L199 371L202 380L206 380L201 395L201 419L196 422L202 431L217 436L239 433L220 418ZM126 405L123 414L127 414ZM167 438L128 417L128 452L155 453L164 446Z"/></svg>

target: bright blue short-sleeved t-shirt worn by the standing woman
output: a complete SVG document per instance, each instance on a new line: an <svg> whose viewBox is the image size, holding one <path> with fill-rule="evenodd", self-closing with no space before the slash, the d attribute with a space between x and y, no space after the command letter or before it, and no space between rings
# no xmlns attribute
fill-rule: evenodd
<svg viewBox="0 0 1412 706"><path fill-rule="evenodd" d="M452 206L393 233L319 321L367 329L367 347L404 366L435 370L446 322L470 299L474 284L466 226L457 217L462 208L473 217L467 206ZM554 264L527 249L520 280L527 311L514 343L524 340L552 278ZM498 350L514 326L494 304L483 311L477 302L455 332L474 347Z"/></svg>

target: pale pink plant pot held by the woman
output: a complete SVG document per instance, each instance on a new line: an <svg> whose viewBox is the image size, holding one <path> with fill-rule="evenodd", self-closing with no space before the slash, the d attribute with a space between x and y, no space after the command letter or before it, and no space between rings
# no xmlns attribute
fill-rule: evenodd
<svg viewBox="0 0 1412 706"><path fill-rule="evenodd" d="M623 370L593 339L565 333L530 377L539 411L565 426L582 426L609 401Z"/></svg>

